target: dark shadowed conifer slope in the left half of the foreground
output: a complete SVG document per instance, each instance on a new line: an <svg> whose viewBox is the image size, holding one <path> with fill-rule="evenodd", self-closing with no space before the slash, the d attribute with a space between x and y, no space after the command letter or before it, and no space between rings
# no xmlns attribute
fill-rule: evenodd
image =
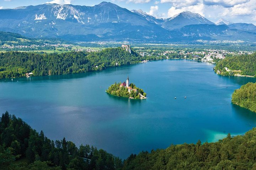
<svg viewBox="0 0 256 170"><path fill-rule="evenodd" d="M122 166L121 159L102 149L89 145L78 148L65 138L54 142L20 118L2 114L0 170L118 170Z"/></svg>

